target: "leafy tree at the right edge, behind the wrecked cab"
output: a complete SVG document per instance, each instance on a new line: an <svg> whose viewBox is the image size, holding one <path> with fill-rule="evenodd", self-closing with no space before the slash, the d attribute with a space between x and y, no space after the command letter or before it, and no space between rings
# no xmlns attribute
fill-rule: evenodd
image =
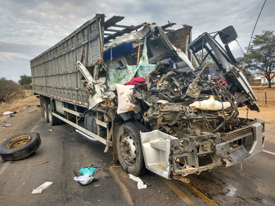
<svg viewBox="0 0 275 206"><path fill-rule="evenodd" d="M261 35L255 35L252 45L246 56L246 68L261 74L268 80L271 87L271 79L275 76L275 35L273 31L263 31Z"/></svg>

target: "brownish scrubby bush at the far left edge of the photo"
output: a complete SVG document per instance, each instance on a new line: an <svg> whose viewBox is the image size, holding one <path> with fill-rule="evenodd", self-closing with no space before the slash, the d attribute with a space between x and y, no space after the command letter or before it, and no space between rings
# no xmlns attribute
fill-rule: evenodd
<svg viewBox="0 0 275 206"><path fill-rule="evenodd" d="M0 78L0 102L8 102L16 97L24 97L24 91L13 80Z"/></svg>

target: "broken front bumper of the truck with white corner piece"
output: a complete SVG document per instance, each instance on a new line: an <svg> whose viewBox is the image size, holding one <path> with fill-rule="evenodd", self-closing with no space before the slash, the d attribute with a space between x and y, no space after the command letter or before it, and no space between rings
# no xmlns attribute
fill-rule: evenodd
<svg viewBox="0 0 275 206"><path fill-rule="evenodd" d="M220 133L178 139L154 130L141 132L146 168L166 179L228 167L253 157L263 150L264 121L248 125L221 137Z"/></svg>

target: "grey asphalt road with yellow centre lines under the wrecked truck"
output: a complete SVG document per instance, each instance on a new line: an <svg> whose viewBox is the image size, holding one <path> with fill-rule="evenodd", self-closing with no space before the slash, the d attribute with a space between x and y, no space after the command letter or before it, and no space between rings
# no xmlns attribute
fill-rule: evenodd
<svg viewBox="0 0 275 206"><path fill-rule="evenodd" d="M38 104L38 103L36 103ZM42 144L32 156L20 161L0 160L0 205L274 205L275 155L261 152L228 168L192 174L189 184L164 180L153 173L140 178L151 184L138 190L121 167L112 167L112 149L76 134L67 124L50 127L31 106L0 119L0 142L18 133L38 132ZM48 131L52 129L52 131ZM265 143L275 153L275 145ZM46 164L33 166L48 161ZM80 186L73 170L93 164L98 180ZM32 190L49 181L42 194Z"/></svg>

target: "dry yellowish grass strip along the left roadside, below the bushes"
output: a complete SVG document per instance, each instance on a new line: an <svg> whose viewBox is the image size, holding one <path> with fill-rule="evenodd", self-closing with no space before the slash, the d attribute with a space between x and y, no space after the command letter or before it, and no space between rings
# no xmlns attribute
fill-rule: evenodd
<svg viewBox="0 0 275 206"><path fill-rule="evenodd" d="M36 96L33 95L32 90L24 90L24 93L24 98L14 99L8 103L0 103L0 116L2 116L5 111L15 111L25 105L38 101Z"/></svg>

